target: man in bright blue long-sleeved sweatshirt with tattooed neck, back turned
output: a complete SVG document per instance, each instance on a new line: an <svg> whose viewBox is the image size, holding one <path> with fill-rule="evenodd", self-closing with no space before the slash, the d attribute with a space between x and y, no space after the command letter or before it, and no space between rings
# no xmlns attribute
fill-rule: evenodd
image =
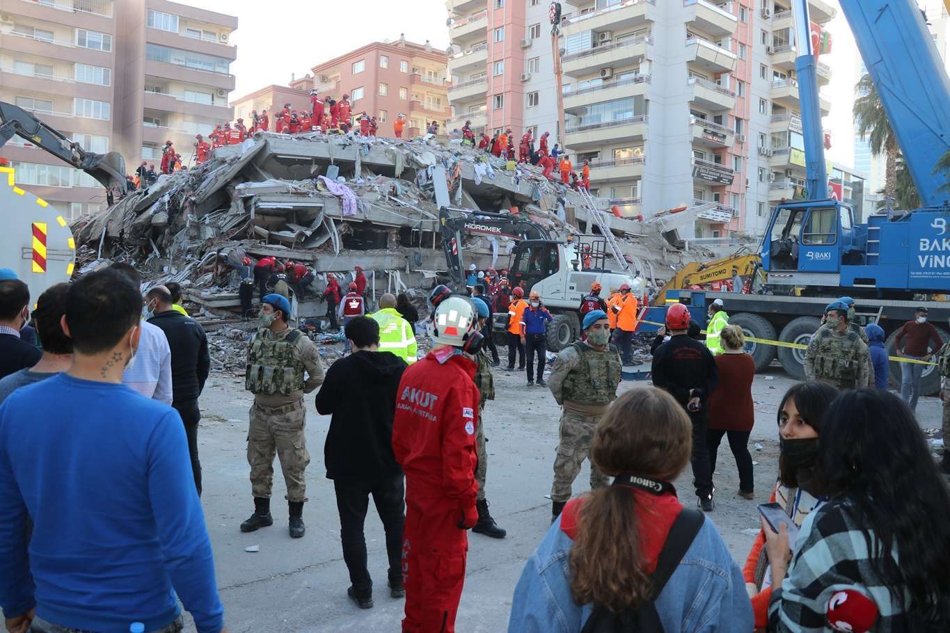
<svg viewBox="0 0 950 633"><path fill-rule="evenodd" d="M178 599L199 633L225 630L179 414L122 383L141 314L139 289L121 272L85 275L66 295L72 365L0 405L9 631L125 633L142 623L171 633Z"/></svg>

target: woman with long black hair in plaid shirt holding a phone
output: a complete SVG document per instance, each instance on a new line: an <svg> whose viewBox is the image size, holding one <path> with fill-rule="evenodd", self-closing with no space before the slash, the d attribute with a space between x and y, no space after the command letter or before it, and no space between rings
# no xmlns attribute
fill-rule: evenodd
<svg viewBox="0 0 950 633"><path fill-rule="evenodd" d="M769 630L950 630L950 489L911 410L886 391L845 392L817 457L827 501L802 525L790 567L785 524L763 522Z"/></svg>

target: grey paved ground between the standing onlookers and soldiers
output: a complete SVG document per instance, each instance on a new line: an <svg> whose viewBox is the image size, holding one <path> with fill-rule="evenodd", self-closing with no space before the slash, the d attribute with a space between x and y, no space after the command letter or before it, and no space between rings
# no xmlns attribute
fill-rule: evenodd
<svg viewBox="0 0 950 633"><path fill-rule="evenodd" d="M504 351L504 350L503 350ZM725 439L719 450L716 524L732 554L743 562L758 525L756 503L768 500L777 472L775 410L792 384L779 369L758 375L753 384L755 428L750 444L755 466L756 500L736 495L738 477ZM466 586L458 630L497 633L506 630L511 595L530 555L548 529L551 467L558 440L560 408L550 392L525 388L522 373L496 372L497 400L485 410L489 438L486 492L491 511L508 531L504 540L469 536ZM642 382L623 382L628 389ZM323 443L330 419L314 411L307 398L307 444L312 456L307 473L307 535L287 534L284 486L275 475L272 512L275 525L250 534L238 525L253 511L244 456L250 395L243 379L213 375L201 398L200 456L204 475L202 502L218 568L218 586L225 620L232 632L243 631L398 631L402 601L391 600L386 587L386 555L382 525L374 510L367 517L370 569L375 580L375 607L360 610L346 596L347 568L339 544L339 522L333 485L325 478ZM940 404L921 399L921 420L940 420ZM934 425L925 423L924 426ZM588 490L585 465L575 493ZM694 503L689 469L675 482L681 498ZM372 507L372 506L371 506ZM244 549L257 545L257 553ZM189 631L194 628L189 624Z"/></svg>

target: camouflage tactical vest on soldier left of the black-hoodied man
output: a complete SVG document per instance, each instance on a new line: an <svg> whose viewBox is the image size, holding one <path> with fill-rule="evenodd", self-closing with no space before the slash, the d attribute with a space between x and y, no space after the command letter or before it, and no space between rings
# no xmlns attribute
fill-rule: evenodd
<svg viewBox="0 0 950 633"><path fill-rule="evenodd" d="M264 340L262 335L263 330L257 332L251 342L244 388L267 396L289 396L303 389L303 361L294 353L300 330L292 329L279 341Z"/></svg>

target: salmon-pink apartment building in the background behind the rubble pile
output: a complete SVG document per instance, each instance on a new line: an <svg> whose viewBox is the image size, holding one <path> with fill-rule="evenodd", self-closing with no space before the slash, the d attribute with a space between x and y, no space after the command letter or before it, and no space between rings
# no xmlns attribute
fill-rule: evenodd
<svg viewBox="0 0 950 633"><path fill-rule="evenodd" d="M405 114L403 138L425 134L431 121L445 131L449 118L446 51L428 42L415 44L400 36L395 42L365 47L314 65L312 75L291 82L292 88L314 88L322 97L350 95L355 120L363 112L375 116L379 136L392 136L392 121Z"/></svg>

